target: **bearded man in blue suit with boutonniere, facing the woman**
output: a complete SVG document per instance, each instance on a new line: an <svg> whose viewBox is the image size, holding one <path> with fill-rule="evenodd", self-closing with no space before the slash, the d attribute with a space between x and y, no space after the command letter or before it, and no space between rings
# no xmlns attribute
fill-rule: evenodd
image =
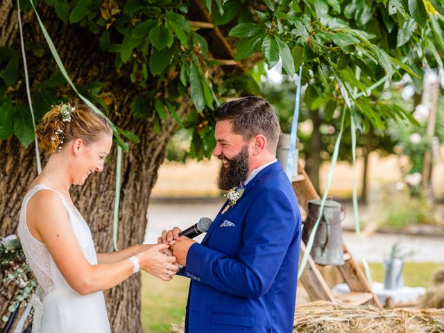
<svg viewBox="0 0 444 333"><path fill-rule="evenodd" d="M300 250L298 201L276 160L280 127L249 96L216 110L218 185L230 190L202 244L174 228L173 255L191 278L185 332L293 332Z"/></svg>

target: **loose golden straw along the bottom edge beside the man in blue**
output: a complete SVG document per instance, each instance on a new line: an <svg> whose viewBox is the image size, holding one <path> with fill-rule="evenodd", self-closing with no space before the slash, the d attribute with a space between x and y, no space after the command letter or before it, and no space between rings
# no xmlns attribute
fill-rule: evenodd
<svg viewBox="0 0 444 333"><path fill-rule="evenodd" d="M444 309L378 309L343 303L298 306L293 332L303 333L443 333ZM183 323L170 333L182 333Z"/></svg>

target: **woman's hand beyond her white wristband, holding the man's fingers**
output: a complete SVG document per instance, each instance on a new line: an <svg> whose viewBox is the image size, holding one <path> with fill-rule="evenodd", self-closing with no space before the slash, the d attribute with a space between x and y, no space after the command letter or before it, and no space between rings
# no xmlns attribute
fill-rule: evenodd
<svg viewBox="0 0 444 333"><path fill-rule="evenodd" d="M158 244L139 253L139 265L144 271L160 280L169 281L178 271L176 257L164 255L171 244Z"/></svg>

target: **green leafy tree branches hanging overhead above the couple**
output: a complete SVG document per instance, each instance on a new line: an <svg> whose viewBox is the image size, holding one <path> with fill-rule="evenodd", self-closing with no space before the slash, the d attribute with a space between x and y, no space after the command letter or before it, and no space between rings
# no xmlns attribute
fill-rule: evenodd
<svg viewBox="0 0 444 333"><path fill-rule="evenodd" d="M22 2L23 10L29 10ZM218 80L207 75L217 62L210 59L204 35L189 24L189 1L44 0L40 6L51 6L66 24L94 33L101 49L114 53L115 69L110 71L132 69L130 82L140 92L131 104L133 116L154 116L156 130L166 117L176 119L178 128L187 128L193 137L190 153L198 160L212 153L214 108L225 97L260 94L248 72L234 71ZM442 0L206 0L202 6L235 41L235 60L245 60L248 67L248 58L260 53L273 67L281 59L289 76L303 64L302 83L308 83L314 97L306 99L308 108L334 114L350 101L357 108L357 127L364 131L370 125L384 129L390 119L412 120L404 110L368 96L368 87L384 76L421 76L422 69L443 66ZM46 49L26 44L28 55L50 63ZM17 94L23 84L22 60L18 50L0 48L0 61L0 139L16 135L27 146L33 138L31 115ZM56 68L31 87L36 121L49 105L69 99L61 94L64 87ZM79 88L105 113L112 111L101 83ZM175 112L180 97L195 108L186 119Z"/></svg>

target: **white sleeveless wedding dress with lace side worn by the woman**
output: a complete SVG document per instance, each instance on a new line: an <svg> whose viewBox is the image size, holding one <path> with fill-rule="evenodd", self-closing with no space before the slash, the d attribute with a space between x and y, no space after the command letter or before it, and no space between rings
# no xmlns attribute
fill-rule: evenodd
<svg viewBox="0 0 444 333"><path fill-rule="evenodd" d="M37 282L42 288L42 311L35 309L33 332L42 333L85 333L111 332L103 292L82 296L63 278L45 244L37 241L26 224L28 200L41 189L55 191L67 209L71 228L89 264L97 264L97 255L91 230L85 219L56 190L46 185L35 185L26 194L20 210L18 234L23 250ZM69 248L67 248L69 251ZM38 300L37 300L38 302ZM42 314L39 314L42 312Z"/></svg>

